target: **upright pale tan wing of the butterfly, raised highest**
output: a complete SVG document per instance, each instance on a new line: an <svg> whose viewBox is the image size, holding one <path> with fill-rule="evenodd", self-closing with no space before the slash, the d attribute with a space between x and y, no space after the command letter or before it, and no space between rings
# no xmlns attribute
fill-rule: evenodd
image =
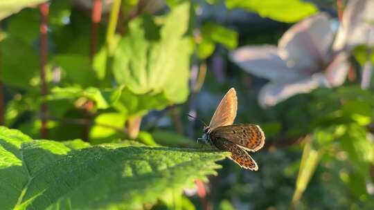
<svg viewBox="0 0 374 210"><path fill-rule="evenodd" d="M238 109L238 97L236 91L231 88L222 98L215 110L209 128L211 131L219 126L226 126L233 124Z"/></svg>

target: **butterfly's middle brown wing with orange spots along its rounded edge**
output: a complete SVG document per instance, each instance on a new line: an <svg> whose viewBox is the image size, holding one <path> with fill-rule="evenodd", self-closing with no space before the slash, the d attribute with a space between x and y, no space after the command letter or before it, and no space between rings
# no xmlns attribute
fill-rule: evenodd
<svg viewBox="0 0 374 210"><path fill-rule="evenodd" d="M258 151L265 144L265 134L260 126L255 124L220 126L211 131L210 136L212 140L223 137L252 152Z"/></svg>

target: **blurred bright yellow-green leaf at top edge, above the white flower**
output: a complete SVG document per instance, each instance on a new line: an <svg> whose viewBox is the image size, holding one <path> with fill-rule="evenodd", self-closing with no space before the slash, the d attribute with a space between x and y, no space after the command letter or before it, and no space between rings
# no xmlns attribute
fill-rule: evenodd
<svg viewBox="0 0 374 210"><path fill-rule="evenodd" d="M257 12L261 17L293 23L318 12L314 4L301 0L226 0L229 9L242 8Z"/></svg>

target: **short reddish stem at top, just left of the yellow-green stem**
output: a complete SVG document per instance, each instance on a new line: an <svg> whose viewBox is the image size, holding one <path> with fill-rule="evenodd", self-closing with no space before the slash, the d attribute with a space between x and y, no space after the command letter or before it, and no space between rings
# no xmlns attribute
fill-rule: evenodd
<svg viewBox="0 0 374 210"><path fill-rule="evenodd" d="M98 39L98 26L101 21L101 11L103 9L102 0L93 0L94 5L92 6L91 12L91 42L89 48L89 60L92 62L96 53L96 44Z"/></svg>

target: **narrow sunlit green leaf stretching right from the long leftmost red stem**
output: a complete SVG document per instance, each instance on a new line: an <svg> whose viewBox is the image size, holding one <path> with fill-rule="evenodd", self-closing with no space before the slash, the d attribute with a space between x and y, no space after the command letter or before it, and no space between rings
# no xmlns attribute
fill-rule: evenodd
<svg viewBox="0 0 374 210"><path fill-rule="evenodd" d="M48 99L78 99L80 97L84 97L96 102L97 108L108 108L118 100L121 92L122 88L98 89L89 87L82 89L77 86L70 86L66 88L55 87L51 90L51 95L48 95Z"/></svg>

